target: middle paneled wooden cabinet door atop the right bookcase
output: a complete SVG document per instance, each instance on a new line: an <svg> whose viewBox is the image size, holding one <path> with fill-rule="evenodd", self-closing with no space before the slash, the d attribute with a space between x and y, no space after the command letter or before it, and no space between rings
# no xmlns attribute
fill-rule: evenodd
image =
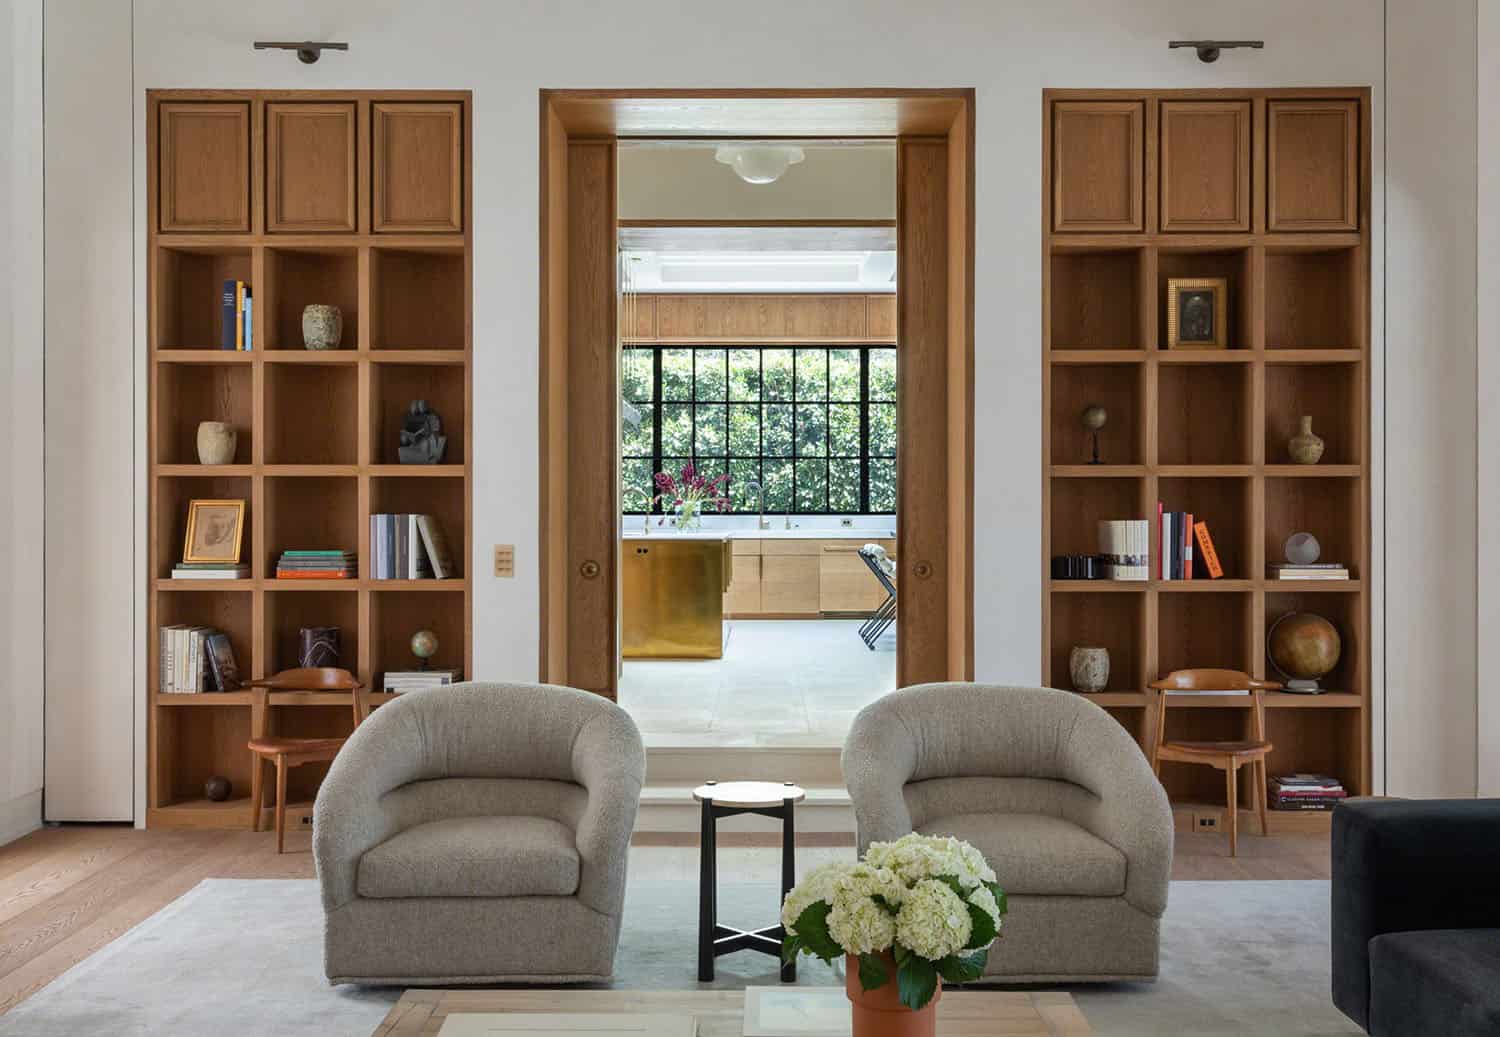
<svg viewBox="0 0 1500 1037"><path fill-rule="evenodd" d="M1161 230L1250 230L1250 102L1161 102Z"/></svg>

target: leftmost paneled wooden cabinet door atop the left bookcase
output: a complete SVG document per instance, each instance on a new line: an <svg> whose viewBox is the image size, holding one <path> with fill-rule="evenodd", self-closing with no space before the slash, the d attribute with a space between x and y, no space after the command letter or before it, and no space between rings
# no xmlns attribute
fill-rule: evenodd
<svg viewBox="0 0 1500 1037"><path fill-rule="evenodd" d="M168 102L158 120L162 231L249 231L249 102Z"/></svg>

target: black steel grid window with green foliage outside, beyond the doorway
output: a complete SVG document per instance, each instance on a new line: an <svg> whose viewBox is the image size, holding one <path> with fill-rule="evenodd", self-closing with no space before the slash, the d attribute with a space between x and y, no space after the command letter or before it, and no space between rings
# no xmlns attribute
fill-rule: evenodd
<svg viewBox="0 0 1500 1037"><path fill-rule="evenodd" d="M892 347L626 347L621 479L656 497L652 474L729 473L734 512L896 513ZM628 513L644 513L630 494ZM669 512L670 501L652 510Z"/></svg>

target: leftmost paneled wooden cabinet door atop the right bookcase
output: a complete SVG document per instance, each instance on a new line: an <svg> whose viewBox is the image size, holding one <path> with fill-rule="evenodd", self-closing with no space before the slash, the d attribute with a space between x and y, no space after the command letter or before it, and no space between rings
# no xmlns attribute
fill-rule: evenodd
<svg viewBox="0 0 1500 1037"><path fill-rule="evenodd" d="M1059 101L1052 108L1052 228L1140 233L1146 105Z"/></svg>

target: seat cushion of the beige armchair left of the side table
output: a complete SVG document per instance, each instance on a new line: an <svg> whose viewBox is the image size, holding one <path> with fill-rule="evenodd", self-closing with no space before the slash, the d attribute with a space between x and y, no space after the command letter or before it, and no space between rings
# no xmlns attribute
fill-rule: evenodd
<svg viewBox="0 0 1500 1037"><path fill-rule="evenodd" d="M573 833L548 818L428 821L360 858L358 894L573 896L579 858Z"/></svg>

